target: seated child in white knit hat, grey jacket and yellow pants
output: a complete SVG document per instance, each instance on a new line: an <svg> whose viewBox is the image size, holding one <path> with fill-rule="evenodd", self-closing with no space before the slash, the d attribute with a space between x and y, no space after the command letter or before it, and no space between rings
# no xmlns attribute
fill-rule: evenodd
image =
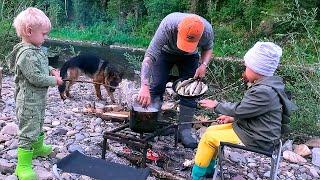
<svg viewBox="0 0 320 180"><path fill-rule="evenodd" d="M282 49L271 42L257 42L244 56L246 70L243 79L252 83L240 102L201 100L200 106L222 114L222 125L209 127L198 145L192 178L213 174L220 142L243 143L245 146L270 150L280 138L282 127L296 106L284 91L282 78L274 72Z"/></svg>

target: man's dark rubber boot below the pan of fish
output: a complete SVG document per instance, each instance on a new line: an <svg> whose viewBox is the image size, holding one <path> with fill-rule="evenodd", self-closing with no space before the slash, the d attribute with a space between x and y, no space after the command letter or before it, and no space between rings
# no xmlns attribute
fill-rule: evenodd
<svg viewBox="0 0 320 180"><path fill-rule="evenodd" d="M196 109L180 105L179 122L192 122ZM192 124L179 126L179 140L185 148L197 148L198 142L191 135Z"/></svg>

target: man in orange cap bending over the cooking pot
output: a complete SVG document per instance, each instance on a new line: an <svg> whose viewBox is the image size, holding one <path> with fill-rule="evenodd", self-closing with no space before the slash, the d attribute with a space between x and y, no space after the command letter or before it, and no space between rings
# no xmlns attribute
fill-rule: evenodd
<svg viewBox="0 0 320 180"><path fill-rule="evenodd" d="M201 56L198 54L198 47ZM165 86L173 65L180 78L203 78L210 62L213 29L204 18L188 13L171 13L160 23L142 62L141 89L138 101L146 107L156 99L163 99ZM151 82L150 82L151 80ZM181 98L179 122L191 122L197 103ZM179 127L179 138L188 148L196 148L191 136L192 125Z"/></svg>

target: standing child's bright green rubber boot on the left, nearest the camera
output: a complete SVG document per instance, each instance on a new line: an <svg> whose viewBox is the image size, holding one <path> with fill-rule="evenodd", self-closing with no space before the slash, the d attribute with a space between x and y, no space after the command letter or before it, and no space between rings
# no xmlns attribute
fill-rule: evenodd
<svg viewBox="0 0 320 180"><path fill-rule="evenodd" d="M19 180L36 180L37 175L32 169L33 150L18 148L18 163L15 174Z"/></svg>

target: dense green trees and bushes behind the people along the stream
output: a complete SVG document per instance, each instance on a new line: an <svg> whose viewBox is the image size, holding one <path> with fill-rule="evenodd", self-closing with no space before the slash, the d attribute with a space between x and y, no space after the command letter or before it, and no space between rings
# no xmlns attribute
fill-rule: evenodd
<svg viewBox="0 0 320 180"><path fill-rule="evenodd" d="M45 11L57 39L146 48L160 21L179 11L212 24L215 57L241 59L258 40L276 42L284 50L278 74L300 108L291 135L320 135L319 0L0 0L0 63L19 41L13 18L29 6ZM132 65L142 60L127 57ZM217 98L241 98L239 64L222 58L210 65L208 78L221 89Z"/></svg>

